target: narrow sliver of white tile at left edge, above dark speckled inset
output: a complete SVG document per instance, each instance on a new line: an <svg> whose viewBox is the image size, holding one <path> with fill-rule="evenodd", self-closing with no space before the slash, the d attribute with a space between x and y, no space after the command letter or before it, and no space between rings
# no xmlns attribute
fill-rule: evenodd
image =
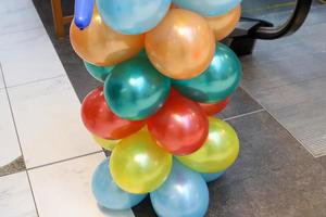
<svg viewBox="0 0 326 217"><path fill-rule="evenodd" d="M5 89L0 90L0 167L2 167L22 155Z"/></svg>

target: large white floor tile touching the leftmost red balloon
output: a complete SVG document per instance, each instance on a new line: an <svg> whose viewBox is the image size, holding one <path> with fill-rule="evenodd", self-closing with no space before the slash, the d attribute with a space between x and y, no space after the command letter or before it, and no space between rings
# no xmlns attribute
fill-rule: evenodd
<svg viewBox="0 0 326 217"><path fill-rule="evenodd" d="M99 151L66 77L9 88L28 168Z"/></svg>

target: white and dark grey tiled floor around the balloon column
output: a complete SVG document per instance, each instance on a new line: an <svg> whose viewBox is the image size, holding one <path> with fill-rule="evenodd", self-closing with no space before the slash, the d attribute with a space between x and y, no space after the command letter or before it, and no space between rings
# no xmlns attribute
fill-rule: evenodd
<svg viewBox="0 0 326 217"><path fill-rule="evenodd" d="M50 3L34 3L42 22L30 0L0 1L0 216L155 216L149 200L133 212L97 206L89 182L104 155L80 123L78 99L99 82L68 38L55 39ZM210 184L206 216L325 216L326 156L314 158L272 117L291 132L303 130L292 133L306 143L323 138L326 43L316 31L326 9L316 9L321 15L314 13L301 33L260 42L242 59L242 88L220 115L238 131L241 152Z"/></svg>

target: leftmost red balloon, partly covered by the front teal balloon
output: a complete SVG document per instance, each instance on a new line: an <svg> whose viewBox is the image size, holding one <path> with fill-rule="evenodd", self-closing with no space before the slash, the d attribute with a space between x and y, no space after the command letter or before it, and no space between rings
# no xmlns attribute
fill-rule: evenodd
<svg viewBox="0 0 326 217"><path fill-rule="evenodd" d="M85 98L82 118L86 128L103 139L122 139L138 131L145 122L131 122L116 116L108 106L103 87L98 87Z"/></svg>

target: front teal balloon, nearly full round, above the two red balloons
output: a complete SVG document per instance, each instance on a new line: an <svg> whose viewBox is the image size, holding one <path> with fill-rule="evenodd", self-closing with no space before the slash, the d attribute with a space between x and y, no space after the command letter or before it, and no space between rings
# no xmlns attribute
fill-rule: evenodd
<svg viewBox="0 0 326 217"><path fill-rule="evenodd" d="M137 56L113 68L104 84L104 95L114 114L139 120L156 113L171 88L148 59Z"/></svg>

